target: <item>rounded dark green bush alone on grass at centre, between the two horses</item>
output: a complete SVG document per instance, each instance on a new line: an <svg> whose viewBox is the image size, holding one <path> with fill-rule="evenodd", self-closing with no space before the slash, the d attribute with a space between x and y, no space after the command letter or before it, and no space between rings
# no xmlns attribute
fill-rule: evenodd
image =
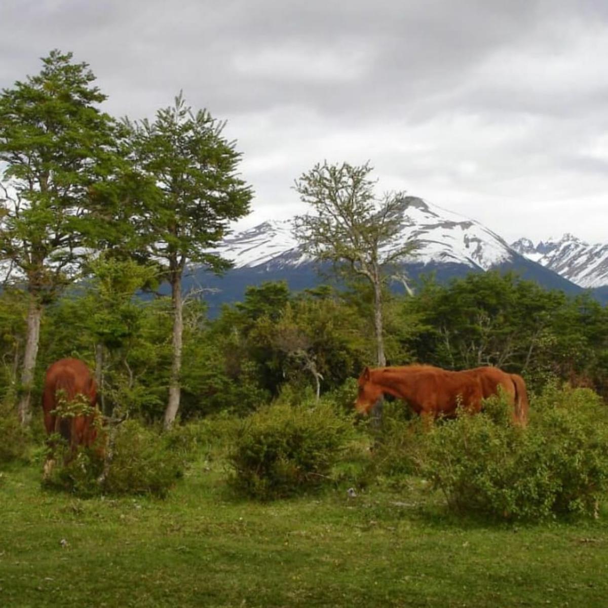
<svg viewBox="0 0 608 608"><path fill-rule="evenodd" d="M331 401L275 402L243 420L229 455L235 488L258 499L316 488L351 436L350 420Z"/></svg>

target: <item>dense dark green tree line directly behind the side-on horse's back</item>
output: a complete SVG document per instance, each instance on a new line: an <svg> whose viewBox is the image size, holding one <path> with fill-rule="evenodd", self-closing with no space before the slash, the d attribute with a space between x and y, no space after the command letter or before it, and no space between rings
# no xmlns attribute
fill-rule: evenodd
<svg viewBox="0 0 608 608"><path fill-rule="evenodd" d="M471 273L449 285L426 280L402 301L402 314L414 330L402 337L404 348L418 361L497 365L525 375L531 387L551 376L606 385L608 309L589 294L569 299L511 273Z"/></svg>

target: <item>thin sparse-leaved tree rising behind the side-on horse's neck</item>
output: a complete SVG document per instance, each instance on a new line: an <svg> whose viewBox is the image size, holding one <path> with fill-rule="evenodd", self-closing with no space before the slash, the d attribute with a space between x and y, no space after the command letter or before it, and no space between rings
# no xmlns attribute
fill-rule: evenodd
<svg viewBox="0 0 608 608"><path fill-rule="evenodd" d="M338 271L363 277L373 289L373 325L376 361L386 365L382 322L382 287L390 270L416 243L401 241L402 215L407 209L403 193L377 199L368 163L317 164L295 181L295 190L316 215L296 218L295 235L316 260L334 264Z"/></svg>

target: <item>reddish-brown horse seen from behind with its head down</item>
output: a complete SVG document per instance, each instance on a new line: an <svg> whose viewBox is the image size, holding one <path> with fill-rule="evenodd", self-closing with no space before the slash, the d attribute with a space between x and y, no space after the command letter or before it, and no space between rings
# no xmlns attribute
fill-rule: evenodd
<svg viewBox="0 0 608 608"><path fill-rule="evenodd" d="M57 412L58 406L66 404L69 407L78 396L89 412L64 416ZM46 433L58 433L67 441L70 446L68 458L73 457L78 446L91 447L97 438L97 385L83 361L60 359L49 366L44 377L42 406ZM52 449L54 446L49 443L49 447ZM53 465L53 454L50 454L44 465L45 475Z"/></svg>

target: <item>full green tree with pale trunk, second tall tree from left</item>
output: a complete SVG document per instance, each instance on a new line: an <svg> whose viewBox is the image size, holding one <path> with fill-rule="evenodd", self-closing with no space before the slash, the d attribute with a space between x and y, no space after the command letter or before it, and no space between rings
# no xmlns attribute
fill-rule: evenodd
<svg viewBox="0 0 608 608"><path fill-rule="evenodd" d="M230 221L249 212L252 191L236 173L241 154L235 142L222 136L225 124L204 109L193 112L181 93L152 123L126 120L134 161L156 184L156 195L148 198L146 212L135 221L143 233L154 235L148 254L164 263L171 285L173 360L165 428L179 410L186 265L202 263L214 272L229 268L212 249Z"/></svg>

